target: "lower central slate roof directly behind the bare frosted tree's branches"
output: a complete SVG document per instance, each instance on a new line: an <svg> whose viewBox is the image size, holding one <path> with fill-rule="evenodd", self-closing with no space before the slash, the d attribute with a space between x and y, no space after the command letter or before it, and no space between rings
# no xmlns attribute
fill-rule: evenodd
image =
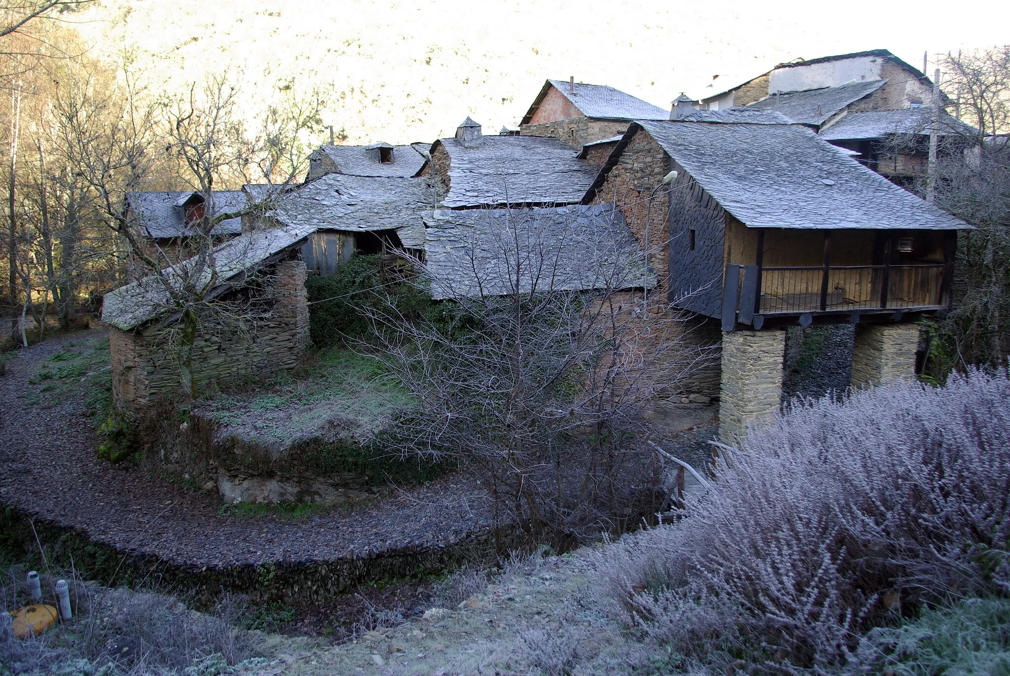
<svg viewBox="0 0 1010 676"><path fill-rule="evenodd" d="M425 224L434 298L655 286L610 204L441 210Z"/></svg>

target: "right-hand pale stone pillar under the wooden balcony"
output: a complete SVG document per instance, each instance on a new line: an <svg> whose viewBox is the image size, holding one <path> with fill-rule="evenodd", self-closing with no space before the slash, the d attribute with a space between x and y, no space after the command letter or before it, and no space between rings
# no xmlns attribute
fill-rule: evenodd
<svg viewBox="0 0 1010 676"><path fill-rule="evenodd" d="M852 387L915 377L918 324L861 324L852 346Z"/></svg>

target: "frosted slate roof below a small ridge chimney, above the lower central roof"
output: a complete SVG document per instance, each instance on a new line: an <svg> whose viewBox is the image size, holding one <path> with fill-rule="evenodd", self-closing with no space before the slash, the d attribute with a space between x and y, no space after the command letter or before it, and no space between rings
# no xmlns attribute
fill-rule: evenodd
<svg viewBox="0 0 1010 676"><path fill-rule="evenodd" d="M442 138L449 156L450 209L506 204L560 205L582 201L597 170L557 138L483 136L465 148Z"/></svg>

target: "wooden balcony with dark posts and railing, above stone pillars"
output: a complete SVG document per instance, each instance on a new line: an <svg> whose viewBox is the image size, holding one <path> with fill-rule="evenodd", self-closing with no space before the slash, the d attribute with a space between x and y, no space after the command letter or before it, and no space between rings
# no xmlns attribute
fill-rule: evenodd
<svg viewBox="0 0 1010 676"><path fill-rule="evenodd" d="M949 266L943 264L728 265L723 330L731 330L734 321L759 328L766 318L788 315L806 315L801 316L806 324L816 314L937 310L947 305L948 286Z"/></svg>

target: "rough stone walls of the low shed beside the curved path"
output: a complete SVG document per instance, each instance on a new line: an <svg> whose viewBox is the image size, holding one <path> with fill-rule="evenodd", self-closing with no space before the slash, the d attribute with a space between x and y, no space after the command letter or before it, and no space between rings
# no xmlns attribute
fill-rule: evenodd
<svg viewBox="0 0 1010 676"><path fill-rule="evenodd" d="M305 264L284 261L275 266L270 289L270 316L247 322L213 322L201 326L194 346L193 371L198 388L294 368L308 347L309 312ZM180 391L179 366L170 345L178 340L169 326L158 331L109 328L112 395L121 408L139 410L159 396Z"/></svg>

